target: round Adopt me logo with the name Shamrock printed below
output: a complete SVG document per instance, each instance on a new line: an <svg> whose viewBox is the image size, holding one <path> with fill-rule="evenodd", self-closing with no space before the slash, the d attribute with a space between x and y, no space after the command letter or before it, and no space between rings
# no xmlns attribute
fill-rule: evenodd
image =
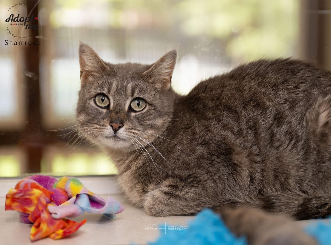
<svg viewBox="0 0 331 245"><path fill-rule="evenodd" d="M38 30L38 17L26 14L26 4L17 3L7 8L5 20L7 32L15 41L5 40L5 45L40 45L39 41L29 41L32 30Z"/></svg>

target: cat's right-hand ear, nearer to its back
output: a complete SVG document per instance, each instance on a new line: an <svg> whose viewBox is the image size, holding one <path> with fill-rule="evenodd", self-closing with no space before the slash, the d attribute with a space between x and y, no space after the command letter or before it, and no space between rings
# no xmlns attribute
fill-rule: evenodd
<svg viewBox="0 0 331 245"><path fill-rule="evenodd" d="M166 53L143 73L147 78L146 81L154 83L161 90L169 90L176 59L177 50L173 49Z"/></svg>

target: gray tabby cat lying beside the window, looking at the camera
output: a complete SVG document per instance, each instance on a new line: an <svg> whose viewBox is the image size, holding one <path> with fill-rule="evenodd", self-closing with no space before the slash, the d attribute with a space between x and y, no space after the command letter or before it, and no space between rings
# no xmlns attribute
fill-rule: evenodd
<svg viewBox="0 0 331 245"><path fill-rule="evenodd" d="M314 244L284 224L331 214L331 73L260 60L180 96L176 57L111 64L79 45L79 131L109 153L129 200L152 216L212 208L254 244ZM283 236L265 237L273 225Z"/></svg>

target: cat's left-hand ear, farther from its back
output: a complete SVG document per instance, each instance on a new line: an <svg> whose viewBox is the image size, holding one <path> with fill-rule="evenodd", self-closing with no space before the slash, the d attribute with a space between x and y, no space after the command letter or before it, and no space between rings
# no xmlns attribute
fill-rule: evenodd
<svg viewBox="0 0 331 245"><path fill-rule="evenodd" d="M81 82L88 81L93 77L97 77L100 73L110 70L98 54L86 43L79 42L78 54Z"/></svg>

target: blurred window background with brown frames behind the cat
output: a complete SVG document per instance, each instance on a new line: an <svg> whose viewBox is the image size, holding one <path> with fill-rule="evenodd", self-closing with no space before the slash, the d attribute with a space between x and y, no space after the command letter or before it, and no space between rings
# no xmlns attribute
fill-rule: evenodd
<svg viewBox="0 0 331 245"><path fill-rule="evenodd" d="M172 86L260 58L295 57L331 69L331 1L27 0L38 17L31 41L14 40L0 2L0 177L31 173L110 175L117 170L77 137L78 41L105 61L153 63L178 48Z"/></svg>

